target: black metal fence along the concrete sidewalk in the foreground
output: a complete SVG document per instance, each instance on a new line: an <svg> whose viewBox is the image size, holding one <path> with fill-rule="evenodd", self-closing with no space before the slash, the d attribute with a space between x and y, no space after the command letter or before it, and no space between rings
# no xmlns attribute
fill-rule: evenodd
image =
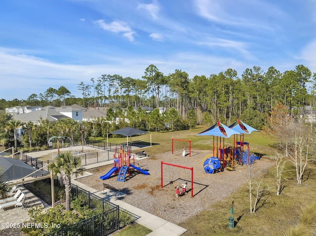
<svg viewBox="0 0 316 236"><path fill-rule="evenodd" d="M46 236L107 236L119 229L119 213L128 214L132 221L135 221L139 216L119 208L118 205L108 202L89 191L86 191L77 185L72 185L71 193L74 197L81 198L90 209L101 209L102 213L94 215L88 219L82 220L74 225L60 229Z"/></svg>

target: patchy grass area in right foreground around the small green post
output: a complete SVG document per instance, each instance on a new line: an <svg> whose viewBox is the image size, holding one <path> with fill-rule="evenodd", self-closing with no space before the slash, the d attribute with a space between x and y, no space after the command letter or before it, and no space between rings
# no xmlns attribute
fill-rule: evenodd
<svg viewBox="0 0 316 236"><path fill-rule="evenodd" d="M274 168L264 173L264 183L271 189L266 202L255 213L250 214L248 188L245 184L237 192L224 198L214 205L200 212L180 226L188 231L184 236L193 235L256 235L279 236L289 227L295 226L299 221L301 209L314 201L316 194L316 167L307 171L305 181L297 185L295 179L288 180L284 190L276 196L276 184L273 177ZM295 173L292 174L294 176ZM209 196L210 198L212 196ZM229 228L231 203L234 201L235 228Z"/></svg>

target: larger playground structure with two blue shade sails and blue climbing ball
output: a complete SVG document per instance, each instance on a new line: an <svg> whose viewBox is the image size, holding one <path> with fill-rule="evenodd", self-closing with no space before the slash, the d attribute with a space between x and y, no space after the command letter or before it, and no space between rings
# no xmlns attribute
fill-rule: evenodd
<svg viewBox="0 0 316 236"><path fill-rule="evenodd" d="M254 154L250 154L249 142L243 141L243 134L250 135L252 131L258 130L246 125L240 120L229 127L218 121L207 130L197 134L213 136L213 156L206 156L207 159L203 163L205 172L215 173L218 171L223 171L225 167L226 169L233 171L236 169L237 165L252 164L253 160L258 159L258 157L256 157ZM234 135L234 146L225 148L224 138L229 138L231 135ZM237 135L240 135L240 138L236 138ZM220 138L219 140L218 137ZM238 141L236 141L236 139L238 139Z"/></svg>

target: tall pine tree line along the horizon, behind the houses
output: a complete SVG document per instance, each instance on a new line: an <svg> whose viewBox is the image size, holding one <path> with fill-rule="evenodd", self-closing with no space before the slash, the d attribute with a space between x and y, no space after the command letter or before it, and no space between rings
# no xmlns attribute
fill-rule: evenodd
<svg viewBox="0 0 316 236"><path fill-rule="evenodd" d="M246 68L241 76L227 69L218 74L195 75L176 69L164 75L155 65L144 71L142 78L134 79L115 74L91 78L90 84L77 85L81 98L75 98L64 86L48 88L43 94L32 94L26 100L0 100L0 109L15 105L72 105L107 107L115 110L149 106L175 108L182 119L190 110L197 115L197 124L222 120L230 124L242 117L256 128L264 125L266 113L277 102L287 106L292 115L305 113L306 105L315 104L316 74L298 65L293 70L278 71L269 67ZM311 84L308 87L308 83ZM309 90L310 88L310 90Z"/></svg>

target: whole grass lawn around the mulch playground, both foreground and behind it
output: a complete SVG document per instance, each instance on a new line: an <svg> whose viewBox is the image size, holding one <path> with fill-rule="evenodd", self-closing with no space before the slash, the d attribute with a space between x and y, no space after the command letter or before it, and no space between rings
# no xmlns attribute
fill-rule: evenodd
<svg viewBox="0 0 316 236"><path fill-rule="evenodd" d="M191 139L192 149L212 150L212 136L195 136L207 127L176 132L152 133L152 147L146 148L146 153L154 155L160 152L171 151L171 138ZM239 138L239 137L238 137ZM111 140L111 141L110 141ZM125 142L124 138L111 138L110 142ZM132 141L140 140L150 142L150 135L133 136ZM244 141L249 142L250 151L268 158L276 150L273 148L275 139L264 132L253 132L251 135L244 135ZM225 146L232 145L234 136L225 139ZM287 164L287 169L293 169ZM240 187L237 192L225 197L214 205L208 205L205 210L183 222L180 226L188 231L185 236L279 236L295 226L299 222L301 209L308 206L316 196L316 167L309 165L304 176L302 185L298 185L295 179L295 171L284 173L288 180L279 196L276 195L276 179L274 167L262 173L264 184L269 188L265 199L258 203L255 213L250 213L249 193L247 184ZM261 177L262 177L261 176ZM234 183L232 183L234 184ZM225 188L225 186L223 186ZM212 196L209 196L210 198ZM234 215L230 213L230 207L234 201ZM234 216L235 227L229 228L229 217ZM139 235L137 230L133 230Z"/></svg>

